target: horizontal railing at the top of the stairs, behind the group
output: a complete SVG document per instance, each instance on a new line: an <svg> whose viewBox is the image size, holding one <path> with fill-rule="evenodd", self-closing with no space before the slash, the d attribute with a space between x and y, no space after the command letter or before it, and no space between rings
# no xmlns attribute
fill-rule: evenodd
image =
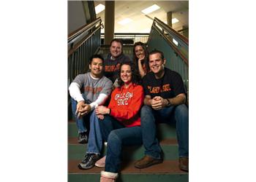
<svg viewBox="0 0 256 182"><path fill-rule="evenodd" d="M133 45L141 41L146 44L149 33L114 33L114 39L121 39L124 45ZM104 33L101 34L102 44L104 44Z"/></svg>

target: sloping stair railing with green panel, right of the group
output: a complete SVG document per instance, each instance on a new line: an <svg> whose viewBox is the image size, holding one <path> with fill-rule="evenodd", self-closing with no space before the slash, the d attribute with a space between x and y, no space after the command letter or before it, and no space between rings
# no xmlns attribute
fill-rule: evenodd
<svg viewBox="0 0 256 182"><path fill-rule="evenodd" d="M181 74L187 90L189 88L189 39L181 35L157 17L148 37L148 50L161 50L167 60L167 68Z"/></svg>

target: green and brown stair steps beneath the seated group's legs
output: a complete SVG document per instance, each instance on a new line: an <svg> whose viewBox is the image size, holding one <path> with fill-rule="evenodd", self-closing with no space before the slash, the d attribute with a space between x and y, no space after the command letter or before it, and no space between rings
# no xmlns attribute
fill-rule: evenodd
<svg viewBox="0 0 256 182"><path fill-rule="evenodd" d="M175 127L169 124L159 124L158 138L164 154L164 162L159 165L137 169L134 162L144 156L143 146L124 146L122 152L122 165L117 181L122 182L187 182L189 174L178 168L178 144ZM75 122L68 122L68 181L69 182L98 182L100 171L104 167L93 167L90 170L80 170L78 163L86 154L87 144L77 141L78 130ZM104 154L107 148L104 146Z"/></svg>

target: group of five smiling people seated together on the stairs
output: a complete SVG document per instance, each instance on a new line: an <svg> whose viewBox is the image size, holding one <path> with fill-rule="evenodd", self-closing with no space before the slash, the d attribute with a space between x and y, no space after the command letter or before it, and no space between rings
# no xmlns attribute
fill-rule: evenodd
<svg viewBox="0 0 256 182"><path fill-rule="evenodd" d="M176 124L179 168L189 171L189 111L181 76L165 68L159 50L148 52L145 44L136 42L132 61L122 47L121 40L113 39L107 58L92 55L90 71L69 86L78 142L88 143L78 167L105 167L100 181L116 181L122 146L141 144L145 156L135 167L162 163L156 128L158 122L167 122ZM104 143L107 154L102 157Z"/></svg>

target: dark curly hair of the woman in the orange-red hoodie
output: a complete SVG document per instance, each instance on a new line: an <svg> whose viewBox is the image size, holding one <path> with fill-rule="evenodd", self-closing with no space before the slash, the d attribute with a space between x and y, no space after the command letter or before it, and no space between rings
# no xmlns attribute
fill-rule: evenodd
<svg viewBox="0 0 256 182"><path fill-rule="evenodd" d="M119 67L119 71L118 71L118 87L121 88L124 85L124 82L121 80L121 66L123 65L129 65L131 67L131 71L132 71L132 83L133 84L140 84L141 83L141 78L140 78L140 74L138 73L138 71L135 69L135 65L132 62L122 62L120 67Z"/></svg>

